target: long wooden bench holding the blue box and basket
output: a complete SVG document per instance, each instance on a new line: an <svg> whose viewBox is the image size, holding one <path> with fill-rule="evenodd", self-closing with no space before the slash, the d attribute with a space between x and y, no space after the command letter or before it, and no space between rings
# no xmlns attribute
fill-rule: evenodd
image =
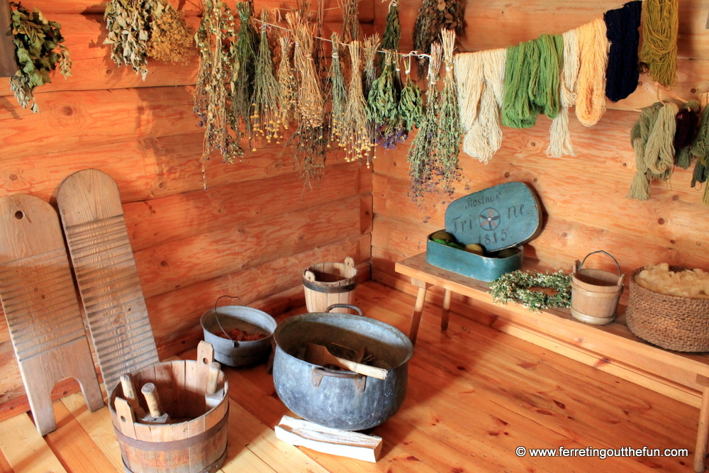
<svg viewBox="0 0 709 473"><path fill-rule="evenodd" d="M409 338L415 343L426 293L431 286L444 290L441 330L448 326L451 294L484 303L496 317L490 325L577 360L591 357L629 381L700 408L694 470L705 469L709 440L709 355L681 353L650 345L633 335L622 322L590 325L576 321L569 309L530 312L519 304L492 304L487 284L429 265L425 252L396 263L396 272L411 277L418 287ZM497 318L501 319L498 320Z"/></svg>

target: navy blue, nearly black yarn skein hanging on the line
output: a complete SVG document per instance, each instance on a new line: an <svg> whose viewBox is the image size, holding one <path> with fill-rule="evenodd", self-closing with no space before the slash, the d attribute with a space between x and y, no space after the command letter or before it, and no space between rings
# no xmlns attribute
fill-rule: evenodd
<svg viewBox="0 0 709 473"><path fill-rule="evenodd" d="M640 78L637 48L640 44L642 1L629 1L623 8L608 10L603 15L610 41L608 69L605 70L605 96L610 101L625 99L637 89Z"/></svg>

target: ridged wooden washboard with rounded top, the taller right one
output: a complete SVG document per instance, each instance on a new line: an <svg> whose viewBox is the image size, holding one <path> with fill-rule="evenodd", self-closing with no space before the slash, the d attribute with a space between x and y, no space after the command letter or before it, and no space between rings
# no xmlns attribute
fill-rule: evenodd
<svg viewBox="0 0 709 473"><path fill-rule="evenodd" d="M110 393L121 374L160 361L121 196L108 174L84 169L64 179L57 204L96 357Z"/></svg>

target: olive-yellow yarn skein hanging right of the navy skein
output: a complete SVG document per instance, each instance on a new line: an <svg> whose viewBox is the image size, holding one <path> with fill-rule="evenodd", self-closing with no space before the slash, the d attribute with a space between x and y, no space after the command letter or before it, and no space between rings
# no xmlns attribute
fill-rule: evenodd
<svg viewBox="0 0 709 473"><path fill-rule="evenodd" d="M677 0L645 0L640 61L664 87L673 85L677 72Z"/></svg>

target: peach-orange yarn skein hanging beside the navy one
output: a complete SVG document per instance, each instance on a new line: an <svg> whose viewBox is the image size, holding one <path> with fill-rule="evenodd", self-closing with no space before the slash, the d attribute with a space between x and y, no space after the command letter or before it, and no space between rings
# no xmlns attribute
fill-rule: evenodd
<svg viewBox="0 0 709 473"><path fill-rule="evenodd" d="M576 117L584 126L592 126L605 113L608 38L605 37L605 23L600 18L579 26L577 30L581 67L576 91Z"/></svg>

